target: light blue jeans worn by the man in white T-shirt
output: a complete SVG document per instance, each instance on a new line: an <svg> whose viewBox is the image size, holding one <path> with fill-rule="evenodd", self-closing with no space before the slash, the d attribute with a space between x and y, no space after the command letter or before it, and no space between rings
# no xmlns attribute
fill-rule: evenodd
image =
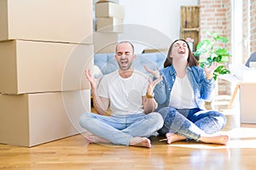
<svg viewBox="0 0 256 170"><path fill-rule="evenodd" d="M149 137L163 127L159 113L152 112L126 116L102 116L84 113L79 119L81 127L113 144L129 145L132 137Z"/></svg>

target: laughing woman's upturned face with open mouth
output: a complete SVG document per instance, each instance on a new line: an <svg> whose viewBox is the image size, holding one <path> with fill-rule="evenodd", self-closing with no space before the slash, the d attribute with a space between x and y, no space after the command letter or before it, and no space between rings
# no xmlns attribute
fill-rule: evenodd
<svg viewBox="0 0 256 170"><path fill-rule="evenodd" d="M170 57L172 59L185 59L187 61L189 57L189 47L187 43L183 42L182 40L174 42Z"/></svg>

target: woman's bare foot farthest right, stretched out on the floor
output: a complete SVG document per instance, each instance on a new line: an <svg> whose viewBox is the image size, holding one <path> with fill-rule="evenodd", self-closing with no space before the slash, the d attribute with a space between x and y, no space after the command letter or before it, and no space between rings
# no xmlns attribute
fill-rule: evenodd
<svg viewBox="0 0 256 170"><path fill-rule="evenodd" d="M228 144L230 137L228 135L218 135L218 136L203 136L199 139L201 142L210 144Z"/></svg>

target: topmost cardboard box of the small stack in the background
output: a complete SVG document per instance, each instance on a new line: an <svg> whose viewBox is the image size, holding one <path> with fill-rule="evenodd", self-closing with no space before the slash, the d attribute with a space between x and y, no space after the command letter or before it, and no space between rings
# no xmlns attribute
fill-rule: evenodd
<svg viewBox="0 0 256 170"><path fill-rule="evenodd" d="M122 5L112 2L98 2L95 5L96 18L116 17L123 19L125 16L125 8Z"/></svg>

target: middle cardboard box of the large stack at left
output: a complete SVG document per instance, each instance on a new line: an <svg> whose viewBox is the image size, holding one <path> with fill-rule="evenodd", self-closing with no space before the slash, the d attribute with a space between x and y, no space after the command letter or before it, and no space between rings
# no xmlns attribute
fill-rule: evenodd
<svg viewBox="0 0 256 170"><path fill-rule="evenodd" d="M14 40L0 51L0 93L90 88L84 69L93 68L93 45Z"/></svg>

